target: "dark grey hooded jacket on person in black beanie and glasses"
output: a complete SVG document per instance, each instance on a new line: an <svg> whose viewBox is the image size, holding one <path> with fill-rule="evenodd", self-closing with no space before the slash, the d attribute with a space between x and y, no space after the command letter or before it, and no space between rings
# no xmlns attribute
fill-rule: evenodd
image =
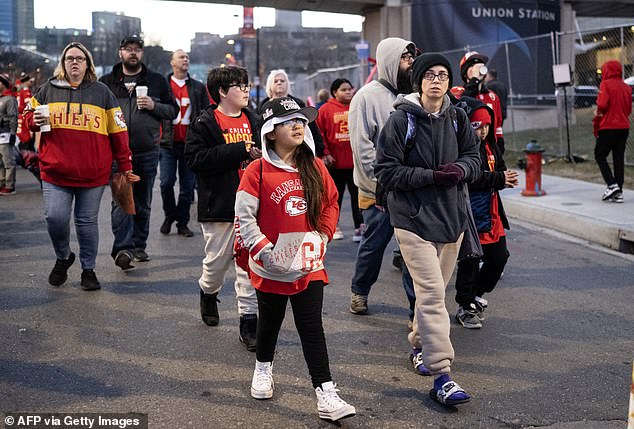
<svg viewBox="0 0 634 429"><path fill-rule="evenodd" d="M476 179L480 170L477 137L465 112L452 106L449 97L438 115L425 112L418 94L400 95L394 107L379 136L374 166L377 180L388 193L390 221L424 240L453 243L467 228L465 185L438 186L433 173L441 164L455 163L464 170L465 182ZM407 112L416 118L411 150L405 141Z"/></svg>

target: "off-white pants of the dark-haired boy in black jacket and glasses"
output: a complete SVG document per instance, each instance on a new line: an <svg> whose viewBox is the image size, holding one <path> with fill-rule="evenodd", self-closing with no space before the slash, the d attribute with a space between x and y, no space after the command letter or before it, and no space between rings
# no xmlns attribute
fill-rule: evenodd
<svg viewBox="0 0 634 429"><path fill-rule="evenodd" d="M231 222L203 222L200 224L205 238L203 273L198 284L204 293L220 292L225 274L233 259L234 226ZM238 314L257 314L258 301L246 271L234 263L236 280L234 288L238 300Z"/></svg>

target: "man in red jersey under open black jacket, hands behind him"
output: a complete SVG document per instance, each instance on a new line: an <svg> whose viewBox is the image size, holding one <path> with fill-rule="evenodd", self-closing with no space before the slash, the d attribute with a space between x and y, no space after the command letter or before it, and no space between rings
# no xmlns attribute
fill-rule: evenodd
<svg viewBox="0 0 634 429"><path fill-rule="evenodd" d="M185 165L185 135L187 127L200 112L209 105L207 89L202 82L189 76L189 55L177 49L170 57L172 73L167 76L176 103L180 111L173 121L163 121L163 137L159 164L161 166L161 199L165 220L161 225L161 234L169 234L172 223L176 222L179 235L192 237L194 233L187 227L189 209L194 199L196 176ZM178 173L178 203L174 198L174 185Z"/></svg>

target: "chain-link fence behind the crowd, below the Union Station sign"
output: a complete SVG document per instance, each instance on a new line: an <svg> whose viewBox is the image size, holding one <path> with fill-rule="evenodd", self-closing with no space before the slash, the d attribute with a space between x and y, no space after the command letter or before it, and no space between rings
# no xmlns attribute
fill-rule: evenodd
<svg viewBox="0 0 634 429"><path fill-rule="evenodd" d="M549 155L593 159L592 117L601 65L619 60L623 79L634 87L634 21L618 27L548 33L445 51L455 65L454 85L460 84L458 64L468 51L487 55L489 69L496 69L498 80L509 90L504 134L506 145L512 150L522 150L534 139ZM555 86L554 64L570 65L569 86ZM360 65L320 70L306 78L303 89L315 97L320 88L330 88L330 83L339 77L359 88L363 83L361 71ZM634 124L633 116L630 124ZM634 128L625 159L628 165L634 165Z"/></svg>

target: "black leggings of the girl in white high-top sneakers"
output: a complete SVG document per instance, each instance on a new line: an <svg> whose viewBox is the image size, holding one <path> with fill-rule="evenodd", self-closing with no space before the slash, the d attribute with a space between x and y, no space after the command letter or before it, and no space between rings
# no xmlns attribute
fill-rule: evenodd
<svg viewBox="0 0 634 429"><path fill-rule="evenodd" d="M277 336L286 315L286 302L290 298L295 327L302 342L302 351L313 387L317 388L322 383L332 381L326 337L321 322L324 282L310 282L306 290L295 295L279 295L260 292L257 289L256 294L259 313L255 351L257 360L273 362Z"/></svg>

